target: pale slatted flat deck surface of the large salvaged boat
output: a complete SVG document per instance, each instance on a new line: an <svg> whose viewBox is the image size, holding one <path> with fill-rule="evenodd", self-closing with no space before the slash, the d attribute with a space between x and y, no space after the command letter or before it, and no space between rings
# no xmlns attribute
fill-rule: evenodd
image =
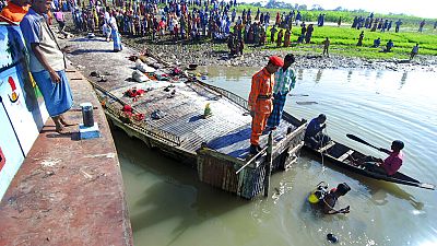
<svg viewBox="0 0 437 246"><path fill-rule="evenodd" d="M74 46L82 45L81 39L72 40L72 43ZM88 43L91 46L93 44L102 45L97 40ZM122 104L128 104L137 113L144 114L149 126L179 139L179 148L182 151L196 153L202 142L205 142L209 148L218 152L245 159L250 145L251 124L247 109L197 82L189 82L182 74L169 75L168 81L132 82L128 78L134 70L134 62L127 58L127 54L137 54L137 51L126 48L122 52L123 56L111 55L110 60L105 60L106 52L86 51L70 54L69 58L73 61L94 60L95 62L90 62L90 66L84 68L85 74L92 71L109 74L105 77L106 82L98 82L98 79L93 77L88 79L119 99L119 102L111 102L116 105L115 107L121 108ZM150 66L155 65L150 63ZM160 69L162 72L170 74L172 71L165 66L160 65L160 67L162 67ZM133 101L125 95L126 91L133 87L146 92ZM210 103L212 116L204 119L203 112L208 103ZM156 109L163 112L165 116L161 119L152 119L151 114ZM281 139L281 134L285 133L290 126L291 124L283 120L280 129L276 130L276 139ZM267 142L267 136L261 137L261 142Z"/></svg>

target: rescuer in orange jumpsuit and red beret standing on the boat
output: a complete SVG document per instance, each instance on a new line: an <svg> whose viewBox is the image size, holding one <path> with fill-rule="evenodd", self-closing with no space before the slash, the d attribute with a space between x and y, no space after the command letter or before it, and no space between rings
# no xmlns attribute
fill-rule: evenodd
<svg viewBox="0 0 437 246"><path fill-rule="evenodd" d="M280 57L272 56L269 58L269 63L252 77L252 86L249 94L249 110L252 116L251 154L257 154L261 150L259 138L273 109L274 73L282 66L284 66L284 61Z"/></svg>

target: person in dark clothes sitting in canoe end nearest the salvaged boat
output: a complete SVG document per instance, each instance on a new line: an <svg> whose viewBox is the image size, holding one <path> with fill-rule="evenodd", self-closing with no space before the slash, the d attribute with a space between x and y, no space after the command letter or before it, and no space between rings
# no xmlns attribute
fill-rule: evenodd
<svg viewBox="0 0 437 246"><path fill-rule="evenodd" d="M322 130L327 128L324 121L327 121L327 116L323 114L320 114L317 118L309 121L307 130L305 131L305 144L312 149L319 149L331 141L331 138L322 132Z"/></svg>

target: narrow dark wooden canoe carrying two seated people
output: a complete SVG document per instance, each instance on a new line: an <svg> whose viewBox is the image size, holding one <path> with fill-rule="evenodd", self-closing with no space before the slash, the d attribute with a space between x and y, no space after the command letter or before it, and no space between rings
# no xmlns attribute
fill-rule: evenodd
<svg viewBox="0 0 437 246"><path fill-rule="evenodd" d="M335 142L335 141L330 141L327 145L320 148L320 149L311 149L308 145L305 145L305 149L307 151L310 151L315 153L318 156L323 156L323 160L328 160L329 164L332 164L334 166L345 168L350 172L369 177L369 178L375 178L378 180L385 180L385 181L390 181L390 183L395 183L395 184L401 184L401 185L408 185L408 186L415 186L420 188L425 188L425 189L435 189L435 185L432 184L426 184L426 183L421 183L412 177L409 177L400 172L395 173L392 176L388 176L385 174L380 173L375 173L366 168L364 165L357 164L356 162L351 161L350 156L352 156L352 160L358 160L362 157L365 157L366 155L351 149L342 143Z"/></svg>

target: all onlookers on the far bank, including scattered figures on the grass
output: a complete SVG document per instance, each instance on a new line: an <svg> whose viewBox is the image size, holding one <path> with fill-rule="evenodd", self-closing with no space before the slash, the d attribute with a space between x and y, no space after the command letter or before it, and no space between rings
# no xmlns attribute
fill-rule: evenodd
<svg viewBox="0 0 437 246"><path fill-rule="evenodd" d="M64 32L62 11L71 11L76 31L101 32L107 40L113 36L120 43L120 34L145 37L151 42L196 43L209 38L226 42L231 55L241 55L245 44L273 44L276 47L290 47L292 43L309 44L315 26L324 25L324 14L319 14L317 24L307 24L298 10L276 12L271 16L272 12L261 12L259 8L237 13L237 4L236 0L113 0L110 4L106 0L55 0L51 5L54 14L48 15L48 21L55 19L60 31ZM336 24L341 26L341 17ZM425 20L418 23L418 32L423 32L425 24ZM383 20L370 13L365 17L355 16L352 28L390 32L394 26L398 33L401 25L401 20ZM436 27L437 21L434 23ZM292 28L299 28L297 37L292 37ZM364 32L357 46L363 45L363 38ZM375 47L380 45L378 42L374 43ZM328 38L323 40L323 52L328 52L329 44ZM391 47L387 50L390 51Z"/></svg>

